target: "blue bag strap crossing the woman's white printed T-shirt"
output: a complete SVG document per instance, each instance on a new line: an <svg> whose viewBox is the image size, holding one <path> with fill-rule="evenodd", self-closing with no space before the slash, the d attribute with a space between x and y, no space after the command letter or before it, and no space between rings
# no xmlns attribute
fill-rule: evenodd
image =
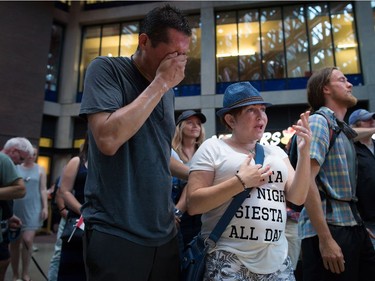
<svg viewBox="0 0 375 281"><path fill-rule="evenodd" d="M263 161L264 161L264 148L262 145L257 143L255 147L255 164L263 165ZM224 232L225 228L227 227L229 222L232 220L234 214L237 212L242 202L249 195L250 191L251 191L251 188L247 188L246 190L234 196L227 210L222 215L219 222L216 224L214 230L211 232L209 236L209 240L213 241L214 243L216 243L217 240L219 240L221 234Z"/></svg>

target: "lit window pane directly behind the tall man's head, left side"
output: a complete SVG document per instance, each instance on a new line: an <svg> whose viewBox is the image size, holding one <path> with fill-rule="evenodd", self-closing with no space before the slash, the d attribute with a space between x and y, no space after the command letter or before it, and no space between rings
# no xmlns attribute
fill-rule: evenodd
<svg viewBox="0 0 375 281"><path fill-rule="evenodd" d="M138 46L139 23L123 23L121 25L120 56L130 57Z"/></svg>

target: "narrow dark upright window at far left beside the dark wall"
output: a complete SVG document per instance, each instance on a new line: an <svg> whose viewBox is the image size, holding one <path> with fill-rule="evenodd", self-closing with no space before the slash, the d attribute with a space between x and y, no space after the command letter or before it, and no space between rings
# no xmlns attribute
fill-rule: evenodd
<svg viewBox="0 0 375 281"><path fill-rule="evenodd" d="M64 27L58 24L52 25L51 41L48 52L45 99L57 102L58 79L60 61L62 56Z"/></svg>

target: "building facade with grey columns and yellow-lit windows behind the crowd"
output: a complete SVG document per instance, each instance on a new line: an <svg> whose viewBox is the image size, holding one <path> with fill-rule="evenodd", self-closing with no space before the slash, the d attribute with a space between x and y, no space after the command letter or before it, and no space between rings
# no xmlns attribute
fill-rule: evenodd
<svg viewBox="0 0 375 281"><path fill-rule="evenodd" d="M52 182L84 138L86 124L78 112L88 64L96 56L130 56L139 21L163 3L0 3L0 35L7 42L0 49L8 54L0 61L0 110L11 120L0 125L1 145L14 135L39 144L39 160ZM264 141L280 143L283 130L307 109L308 77L324 66L344 72L357 107L375 110L373 2L170 3L193 27L186 77L175 88L176 115L203 112L207 136L225 133L216 117L225 88L251 81L274 105L267 109Z"/></svg>

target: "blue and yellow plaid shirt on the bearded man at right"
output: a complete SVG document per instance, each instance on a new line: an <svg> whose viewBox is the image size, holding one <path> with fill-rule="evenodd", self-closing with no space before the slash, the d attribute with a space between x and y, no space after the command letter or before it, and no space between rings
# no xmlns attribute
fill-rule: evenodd
<svg viewBox="0 0 375 281"><path fill-rule="evenodd" d="M322 109L331 118L331 124L337 125L334 112L327 107L323 107ZM350 182L352 169L348 165L348 163L355 163L353 144L341 132L327 155L330 143L330 130L326 119L319 114L313 114L309 118L309 123L312 131L310 158L315 159L320 165L319 177L325 186L323 190L328 194L331 206L331 208L327 208L327 200L325 198L322 200L326 221L328 224L337 226L356 225L357 222L352 214L350 205L348 202L345 202L356 200ZM321 186L318 187L322 190ZM315 236L316 234L304 208L299 218L299 235L303 239Z"/></svg>

